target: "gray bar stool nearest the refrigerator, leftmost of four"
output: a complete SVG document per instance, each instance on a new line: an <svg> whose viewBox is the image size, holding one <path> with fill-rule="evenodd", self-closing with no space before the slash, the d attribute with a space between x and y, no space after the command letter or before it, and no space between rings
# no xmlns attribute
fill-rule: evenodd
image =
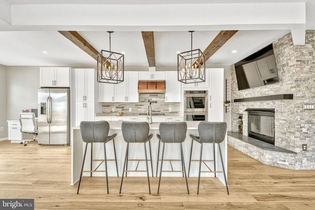
<svg viewBox="0 0 315 210"><path fill-rule="evenodd" d="M80 183L81 183L81 178L82 178L82 173L83 172L90 172L91 177L92 177L92 172L105 172L106 173L106 185L107 185L107 194L108 194L108 179L107 179L107 161L113 161L115 160L116 162L116 171L117 171L117 176L118 176L118 168L117 168L117 158L116 158L116 149L115 149L115 137L116 133L108 136L109 132L109 123L107 121L82 121L80 123L80 132L81 132L81 137L82 141L86 143L85 145L85 150L84 150L84 156L83 156L83 161L82 161L82 168L81 168L81 175L80 175L80 180L79 180L79 185L78 185L78 191L77 194L79 193L80 189ZM106 143L113 140L113 145L114 145L114 154L115 154L115 159L108 159L106 158ZM88 144L91 143L91 170L90 171L83 171L84 167L84 162L85 162L85 156L87 153L87 148ZM103 143L104 145L104 160L102 159L93 159L93 143ZM101 161L98 166L95 168L95 170L92 170L93 166L93 161ZM105 171L100 171L97 170L97 168L105 162Z"/></svg>

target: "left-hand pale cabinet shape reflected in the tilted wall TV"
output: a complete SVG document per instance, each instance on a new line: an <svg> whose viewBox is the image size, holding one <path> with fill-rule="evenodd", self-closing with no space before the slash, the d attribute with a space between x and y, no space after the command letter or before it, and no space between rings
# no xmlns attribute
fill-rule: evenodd
<svg viewBox="0 0 315 210"><path fill-rule="evenodd" d="M255 88L263 85L261 82L260 75L258 73L256 61L246 63L242 66L250 88Z"/></svg>

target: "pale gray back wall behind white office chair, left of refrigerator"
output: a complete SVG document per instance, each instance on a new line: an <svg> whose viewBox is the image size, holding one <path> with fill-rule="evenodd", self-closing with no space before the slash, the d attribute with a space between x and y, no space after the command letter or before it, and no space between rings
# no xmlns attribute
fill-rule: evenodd
<svg viewBox="0 0 315 210"><path fill-rule="evenodd" d="M38 66L7 66L7 120L19 120L25 109L37 109Z"/></svg>

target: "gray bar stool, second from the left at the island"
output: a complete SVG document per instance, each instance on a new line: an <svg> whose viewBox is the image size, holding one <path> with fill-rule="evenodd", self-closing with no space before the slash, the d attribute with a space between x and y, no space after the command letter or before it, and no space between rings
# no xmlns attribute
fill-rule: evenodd
<svg viewBox="0 0 315 210"><path fill-rule="evenodd" d="M147 172L149 193L151 194L146 143L150 141L153 134L149 135L149 131L150 131L150 126L148 122L132 122L132 121L122 122L122 133L123 133L124 141L127 143L127 148L126 148L125 162L124 162L123 175L122 175L122 181L120 184L119 194L122 192L125 172L126 173L127 172ZM138 161L138 164L135 170L127 170L129 143L143 143L144 145L144 154L146 158L145 160L129 159L129 161ZM146 167L147 167L146 171L137 170L140 161L146 161ZM151 168L152 168L152 158L151 158Z"/></svg>

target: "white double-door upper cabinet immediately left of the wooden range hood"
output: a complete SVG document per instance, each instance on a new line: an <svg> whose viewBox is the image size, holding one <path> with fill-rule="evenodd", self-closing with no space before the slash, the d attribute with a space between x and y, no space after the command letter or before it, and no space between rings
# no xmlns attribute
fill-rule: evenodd
<svg viewBox="0 0 315 210"><path fill-rule="evenodd" d="M124 72L124 82L115 85L115 102L139 102L138 72Z"/></svg>

